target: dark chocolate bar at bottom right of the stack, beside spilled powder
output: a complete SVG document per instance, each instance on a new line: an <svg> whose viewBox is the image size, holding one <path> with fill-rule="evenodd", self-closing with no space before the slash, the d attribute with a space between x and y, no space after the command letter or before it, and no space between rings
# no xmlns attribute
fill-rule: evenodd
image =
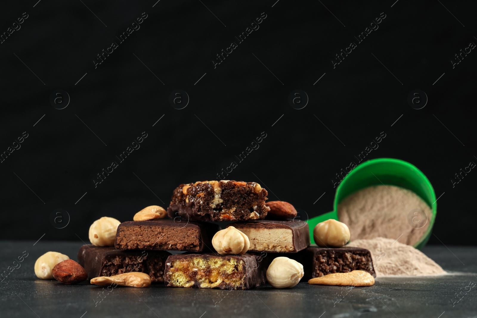
<svg viewBox="0 0 477 318"><path fill-rule="evenodd" d="M332 273L348 273L352 270L363 270L376 277L371 253L365 248L310 246L295 256L289 257L303 265L305 272L303 279L321 277Z"/></svg>

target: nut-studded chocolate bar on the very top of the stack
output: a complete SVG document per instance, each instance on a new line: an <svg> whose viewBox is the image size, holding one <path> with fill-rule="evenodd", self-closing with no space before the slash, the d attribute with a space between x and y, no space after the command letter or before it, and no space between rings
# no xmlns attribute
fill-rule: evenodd
<svg viewBox="0 0 477 318"><path fill-rule="evenodd" d="M255 182L203 181L179 185L167 214L195 221L263 220L268 192Z"/></svg>

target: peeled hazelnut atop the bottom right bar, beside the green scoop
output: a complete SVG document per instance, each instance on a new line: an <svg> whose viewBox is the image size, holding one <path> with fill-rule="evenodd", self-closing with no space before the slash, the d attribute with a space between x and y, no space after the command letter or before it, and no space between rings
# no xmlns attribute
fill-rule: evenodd
<svg viewBox="0 0 477 318"><path fill-rule="evenodd" d="M341 247L350 240L350 229L340 221L329 219L313 229L315 243L321 247Z"/></svg>

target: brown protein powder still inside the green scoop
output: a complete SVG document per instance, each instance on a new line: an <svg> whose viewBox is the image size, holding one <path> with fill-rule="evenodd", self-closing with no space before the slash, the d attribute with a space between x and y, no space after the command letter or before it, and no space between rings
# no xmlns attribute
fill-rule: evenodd
<svg viewBox="0 0 477 318"><path fill-rule="evenodd" d="M414 245L427 230L430 217L432 210L423 199L394 185L364 188L338 205L338 218L350 228L352 240L399 237L399 242Z"/></svg>

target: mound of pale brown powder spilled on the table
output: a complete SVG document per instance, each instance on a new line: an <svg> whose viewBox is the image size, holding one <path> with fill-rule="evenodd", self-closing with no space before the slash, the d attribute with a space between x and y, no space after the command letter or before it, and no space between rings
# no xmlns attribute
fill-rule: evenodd
<svg viewBox="0 0 477 318"><path fill-rule="evenodd" d="M443 275L446 271L413 246L394 242L393 239L375 237L354 240L347 246L366 248L373 257L376 276Z"/></svg>

